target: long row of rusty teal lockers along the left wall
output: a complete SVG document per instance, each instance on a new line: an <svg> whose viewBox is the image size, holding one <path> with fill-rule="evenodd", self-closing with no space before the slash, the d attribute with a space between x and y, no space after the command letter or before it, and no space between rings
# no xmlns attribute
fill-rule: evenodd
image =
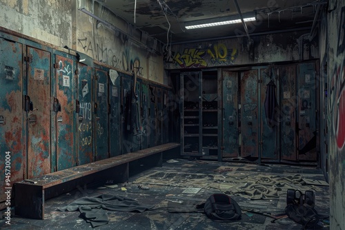
<svg viewBox="0 0 345 230"><path fill-rule="evenodd" d="M172 138L170 88L0 35L0 202L6 154L12 183Z"/></svg>

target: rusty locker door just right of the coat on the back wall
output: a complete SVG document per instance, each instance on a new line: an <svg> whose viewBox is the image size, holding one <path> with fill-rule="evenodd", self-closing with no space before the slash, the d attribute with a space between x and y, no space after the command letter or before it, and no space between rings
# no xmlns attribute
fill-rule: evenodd
<svg viewBox="0 0 345 230"><path fill-rule="evenodd" d="M296 65L279 68L280 79L280 158L297 160L296 147Z"/></svg>

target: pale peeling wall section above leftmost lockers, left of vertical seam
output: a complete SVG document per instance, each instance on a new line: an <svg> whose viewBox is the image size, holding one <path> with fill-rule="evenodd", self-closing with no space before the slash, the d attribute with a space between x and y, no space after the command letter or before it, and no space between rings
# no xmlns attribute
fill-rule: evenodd
<svg viewBox="0 0 345 230"><path fill-rule="evenodd" d="M0 0L1 26L58 46L72 43L72 0Z"/></svg>

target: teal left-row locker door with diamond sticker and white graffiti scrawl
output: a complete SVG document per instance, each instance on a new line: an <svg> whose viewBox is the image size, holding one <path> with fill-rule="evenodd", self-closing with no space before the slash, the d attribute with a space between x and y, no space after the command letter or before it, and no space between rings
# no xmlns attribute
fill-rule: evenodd
<svg viewBox="0 0 345 230"><path fill-rule="evenodd" d="M78 165L94 160L92 140L92 67L78 63L78 100L77 100L77 132L78 132Z"/></svg>

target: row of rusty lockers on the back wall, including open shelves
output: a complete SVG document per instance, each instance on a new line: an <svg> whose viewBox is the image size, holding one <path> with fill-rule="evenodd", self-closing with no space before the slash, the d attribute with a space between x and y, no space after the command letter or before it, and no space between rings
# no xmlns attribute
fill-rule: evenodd
<svg viewBox="0 0 345 230"><path fill-rule="evenodd" d="M316 61L181 73L182 154L317 163Z"/></svg>

